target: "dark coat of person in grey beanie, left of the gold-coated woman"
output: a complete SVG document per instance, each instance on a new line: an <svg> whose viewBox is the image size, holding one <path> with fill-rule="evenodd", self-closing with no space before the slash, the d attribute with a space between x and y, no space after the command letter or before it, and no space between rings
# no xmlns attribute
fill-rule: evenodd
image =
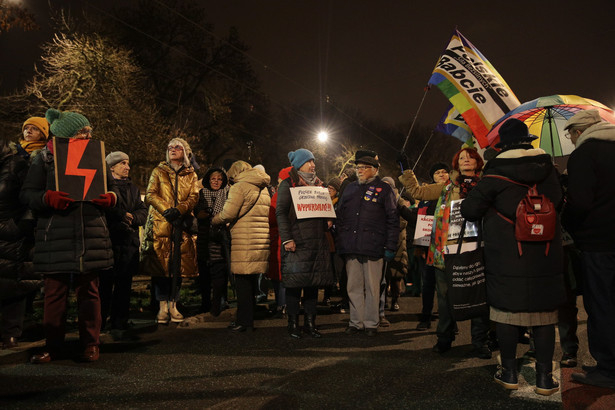
<svg viewBox="0 0 615 410"><path fill-rule="evenodd" d="M106 211L113 255L116 264L127 266L139 253L139 227L145 225L147 206L141 200L139 188L130 178L114 179L110 190L115 192L117 203ZM126 214L133 217L132 222L126 221Z"/></svg>

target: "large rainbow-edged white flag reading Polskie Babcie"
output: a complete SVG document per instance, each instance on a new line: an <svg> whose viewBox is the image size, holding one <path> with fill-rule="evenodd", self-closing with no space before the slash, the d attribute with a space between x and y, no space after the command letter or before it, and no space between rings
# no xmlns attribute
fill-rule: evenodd
<svg viewBox="0 0 615 410"><path fill-rule="evenodd" d="M459 111L482 148L489 144L491 126L521 105L497 70L458 30L440 56L429 84L436 85Z"/></svg>

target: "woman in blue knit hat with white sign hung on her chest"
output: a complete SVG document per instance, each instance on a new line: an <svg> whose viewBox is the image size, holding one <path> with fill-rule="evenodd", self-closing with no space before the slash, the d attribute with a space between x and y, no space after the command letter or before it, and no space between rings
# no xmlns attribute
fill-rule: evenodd
<svg viewBox="0 0 615 410"><path fill-rule="evenodd" d="M280 233L282 284L286 288L288 333L301 337L299 300L303 291L305 318L303 329L312 337L321 337L316 328L318 288L335 284L329 242L326 237L335 217L331 197L316 176L314 155L300 148L288 153L290 176L280 183L276 218ZM320 187L308 189L309 187ZM319 193L320 192L320 193ZM306 209L329 209L331 214L309 213Z"/></svg>

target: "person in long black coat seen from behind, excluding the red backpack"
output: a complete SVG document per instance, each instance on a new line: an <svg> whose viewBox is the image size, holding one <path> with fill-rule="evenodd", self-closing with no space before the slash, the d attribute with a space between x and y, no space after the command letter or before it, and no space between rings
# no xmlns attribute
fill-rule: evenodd
<svg viewBox="0 0 615 410"><path fill-rule="evenodd" d="M561 208L563 193L551 156L532 146L537 137L529 134L523 121L511 118L499 132L496 148L502 151L487 163L483 178L461 204L467 220L483 221L487 299L502 355L494 380L505 389L519 388L517 341L520 332L532 327L535 392L551 395L559 386L552 376L554 325L557 309L566 300L561 231L557 223L548 252L542 241L524 241L519 252L512 221L528 185L536 185L538 193L549 198L556 210Z"/></svg>

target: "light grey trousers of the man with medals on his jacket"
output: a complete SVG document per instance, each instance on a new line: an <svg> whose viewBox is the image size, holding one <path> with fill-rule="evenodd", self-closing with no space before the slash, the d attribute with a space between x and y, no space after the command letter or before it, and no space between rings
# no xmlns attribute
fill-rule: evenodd
<svg viewBox="0 0 615 410"><path fill-rule="evenodd" d="M352 257L346 261L350 321L357 329L376 329L380 322L382 259Z"/></svg>

